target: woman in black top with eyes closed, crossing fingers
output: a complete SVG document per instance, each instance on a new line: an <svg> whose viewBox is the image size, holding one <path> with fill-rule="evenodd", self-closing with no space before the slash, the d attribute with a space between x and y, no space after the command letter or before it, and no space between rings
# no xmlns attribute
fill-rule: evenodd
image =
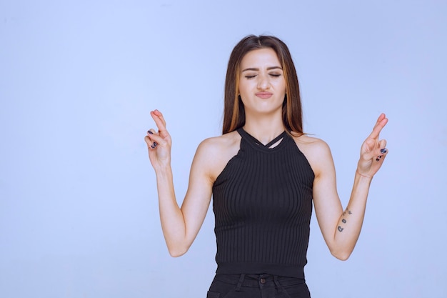
<svg viewBox="0 0 447 298"><path fill-rule="evenodd" d="M310 297L306 264L312 200L334 257L347 259L358 239L373 175L386 157L378 117L361 146L345 210L327 144L303 134L298 79L286 44L247 36L233 49L226 74L223 134L199 145L179 208L171 172L171 138L160 111L145 137L159 191L169 253L184 254L211 202L218 269L207 297Z"/></svg>

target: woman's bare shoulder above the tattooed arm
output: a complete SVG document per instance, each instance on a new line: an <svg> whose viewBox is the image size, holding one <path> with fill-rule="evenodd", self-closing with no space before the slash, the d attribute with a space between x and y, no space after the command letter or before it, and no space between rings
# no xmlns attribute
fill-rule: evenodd
<svg viewBox="0 0 447 298"><path fill-rule="evenodd" d="M302 136L293 136L296 146L303 152L313 169L313 172L318 176L321 169L327 166L328 163L333 163L331 149L326 141L303 134Z"/></svg>

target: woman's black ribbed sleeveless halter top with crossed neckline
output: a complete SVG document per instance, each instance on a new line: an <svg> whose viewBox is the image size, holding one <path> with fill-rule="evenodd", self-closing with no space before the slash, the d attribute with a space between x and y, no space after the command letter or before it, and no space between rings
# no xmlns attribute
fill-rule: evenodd
<svg viewBox="0 0 447 298"><path fill-rule="evenodd" d="M213 186L216 273L304 278L311 166L286 131L266 145L243 129L238 133L239 152Z"/></svg>

